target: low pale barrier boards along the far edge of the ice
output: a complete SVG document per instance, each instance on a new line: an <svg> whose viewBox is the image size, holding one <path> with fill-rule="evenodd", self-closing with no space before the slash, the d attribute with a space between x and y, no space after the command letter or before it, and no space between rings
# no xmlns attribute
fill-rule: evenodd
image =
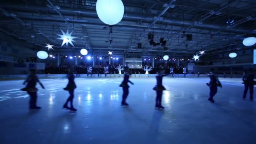
<svg viewBox="0 0 256 144"><path fill-rule="evenodd" d="M24 80L27 78L28 75L0 75L0 80ZM174 77L184 77L184 74L174 74ZM218 75L219 77L223 77L223 75ZM42 79L48 79L48 78L66 78L67 75L66 74L43 74L43 75L37 75L37 77L42 78ZM80 74L79 77L84 77L87 78L87 74ZM88 78L91 77L91 74L88 76ZM94 78L98 77L98 74L93 74ZM104 74L100 74L99 78L104 78L105 75ZM118 74L108 74L107 75L108 78L115 78L115 77L123 77L122 75L118 75ZM131 77L155 77L155 74L132 74ZM171 75L166 76L166 77L171 77ZM197 77L197 75L194 74L187 74L186 77ZM201 74L199 77L208 77L208 75L206 74ZM230 75L226 75L227 78L230 78ZM239 77L241 78L242 75L233 75L233 77Z"/></svg>

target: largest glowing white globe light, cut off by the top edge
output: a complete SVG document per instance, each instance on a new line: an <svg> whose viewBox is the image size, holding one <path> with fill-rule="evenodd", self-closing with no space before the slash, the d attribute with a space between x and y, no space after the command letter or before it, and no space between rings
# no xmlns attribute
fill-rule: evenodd
<svg viewBox="0 0 256 144"><path fill-rule="evenodd" d="M97 0L96 11L102 22L115 25L123 19L123 2L122 0Z"/></svg>

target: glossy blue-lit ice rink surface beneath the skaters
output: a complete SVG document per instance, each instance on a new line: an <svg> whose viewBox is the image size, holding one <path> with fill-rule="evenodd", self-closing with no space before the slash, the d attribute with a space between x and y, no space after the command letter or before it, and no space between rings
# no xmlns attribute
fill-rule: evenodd
<svg viewBox="0 0 256 144"><path fill-rule="evenodd" d="M77 112L61 109L67 79L41 79L40 110L28 109L23 80L0 81L0 144L256 144L256 102L242 99L241 79L219 79L212 104L208 77L164 77L159 111L155 77L130 78L129 107L121 107L123 78L76 78Z"/></svg>

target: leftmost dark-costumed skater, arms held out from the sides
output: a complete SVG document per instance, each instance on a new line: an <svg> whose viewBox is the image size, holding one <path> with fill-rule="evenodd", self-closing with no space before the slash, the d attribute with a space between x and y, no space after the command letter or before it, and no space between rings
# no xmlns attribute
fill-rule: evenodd
<svg viewBox="0 0 256 144"><path fill-rule="evenodd" d="M35 69L30 69L30 75L27 77L27 80L24 81L23 85L25 85L26 83L27 86L25 88L22 88L21 91L27 91L30 96L29 109L40 109L41 107L37 106L37 88L35 86L37 85L37 83L39 83L43 89L44 86L39 81Z"/></svg>

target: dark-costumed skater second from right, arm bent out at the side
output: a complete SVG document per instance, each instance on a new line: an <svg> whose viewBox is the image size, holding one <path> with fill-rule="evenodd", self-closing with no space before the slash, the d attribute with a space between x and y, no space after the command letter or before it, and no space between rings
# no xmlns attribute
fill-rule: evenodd
<svg viewBox="0 0 256 144"><path fill-rule="evenodd" d="M213 96L216 95L218 86L222 88L222 85L221 85L221 82L219 81L217 75L214 75L213 69L212 69L212 72L210 72L210 74L208 74L208 76L210 77L210 82L206 83L206 85L208 85L210 87L210 94L209 94L208 101L211 101L212 103L214 103L215 101L213 100Z"/></svg>

